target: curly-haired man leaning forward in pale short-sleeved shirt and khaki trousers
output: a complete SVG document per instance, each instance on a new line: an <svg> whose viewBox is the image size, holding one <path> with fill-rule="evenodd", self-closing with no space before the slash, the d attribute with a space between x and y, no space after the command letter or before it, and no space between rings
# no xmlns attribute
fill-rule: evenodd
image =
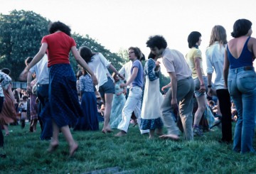
<svg viewBox="0 0 256 174"><path fill-rule="evenodd" d="M167 127L168 135L161 138L178 139L180 131L174 121L174 111L178 109L183 125L185 139L193 140L193 92L195 85L191 77L192 72L188 67L184 56L178 50L167 48L163 36L151 36L146 42L151 53L163 58L164 66L171 78L170 89L166 92L161 104L161 113L164 125Z"/></svg>

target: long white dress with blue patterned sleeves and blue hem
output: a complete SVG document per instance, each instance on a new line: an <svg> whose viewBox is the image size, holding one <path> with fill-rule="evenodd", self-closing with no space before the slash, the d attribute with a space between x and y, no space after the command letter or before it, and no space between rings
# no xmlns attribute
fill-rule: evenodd
<svg viewBox="0 0 256 174"><path fill-rule="evenodd" d="M163 126L160 106L164 97L159 90L160 71L155 72L155 67L155 61L151 58L144 67L146 83L142 102L142 130L159 129Z"/></svg>

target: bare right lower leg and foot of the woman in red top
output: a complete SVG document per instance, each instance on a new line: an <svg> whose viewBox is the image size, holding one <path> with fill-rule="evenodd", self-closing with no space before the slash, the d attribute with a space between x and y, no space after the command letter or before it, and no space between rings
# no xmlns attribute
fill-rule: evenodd
<svg viewBox="0 0 256 174"><path fill-rule="evenodd" d="M68 146L70 146L70 155L69 155L69 157L71 157L71 156L73 156L75 151L78 149L78 143L75 143L68 125L61 127L60 130L62 131L66 141L68 141Z"/></svg>

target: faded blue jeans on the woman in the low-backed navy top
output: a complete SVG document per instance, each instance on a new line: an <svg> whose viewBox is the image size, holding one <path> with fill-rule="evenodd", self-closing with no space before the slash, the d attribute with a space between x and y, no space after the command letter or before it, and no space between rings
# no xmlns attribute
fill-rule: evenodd
<svg viewBox="0 0 256 174"><path fill-rule="evenodd" d="M229 70L228 91L238 111L233 151L255 153L255 149L252 147L256 114L255 70L245 70L244 67Z"/></svg>

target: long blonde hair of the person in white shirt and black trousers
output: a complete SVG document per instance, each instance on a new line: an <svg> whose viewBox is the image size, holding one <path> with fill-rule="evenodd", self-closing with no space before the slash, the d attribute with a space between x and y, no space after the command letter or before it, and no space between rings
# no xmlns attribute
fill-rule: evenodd
<svg viewBox="0 0 256 174"><path fill-rule="evenodd" d="M225 45L227 42L227 33L223 26L214 26L210 34L210 45L218 41L220 45Z"/></svg>

